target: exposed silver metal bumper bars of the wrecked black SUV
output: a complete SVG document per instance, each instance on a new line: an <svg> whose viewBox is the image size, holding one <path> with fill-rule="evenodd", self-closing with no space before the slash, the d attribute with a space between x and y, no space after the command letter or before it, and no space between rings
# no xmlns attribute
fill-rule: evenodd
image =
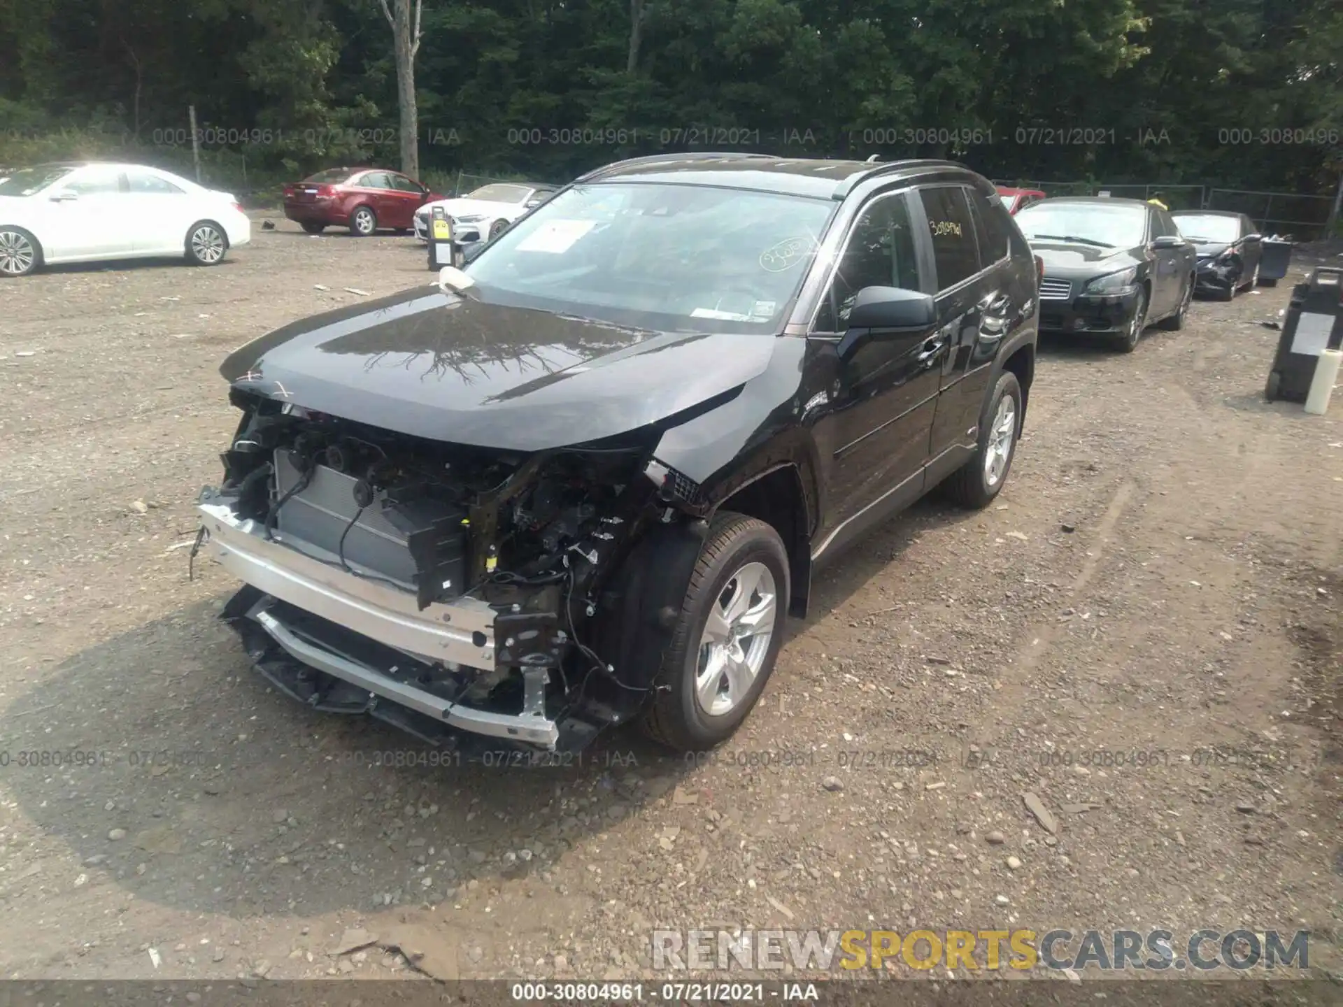
<svg viewBox="0 0 1343 1007"><path fill-rule="evenodd" d="M545 713L548 667L524 667L516 713L463 704L451 675L428 674L445 667L493 671L497 653L510 657L501 651L513 636L496 638L500 630L514 632L506 628L510 616L467 596L420 610L407 591L349 573L334 557L326 561L267 538L261 522L239 518L230 498L214 490L201 493L197 513L203 546L254 589L246 611L226 615L248 624L243 631L248 653L286 693L321 709L352 713L376 713L391 704L415 716L384 720L431 741L441 738L424 730L426 724L416 728L419 718L552 751L560 742L561 726ZM274 647L262 646L251 627L259 627ZM302 667L277 665L275 647ZM321 679L314 682L312 671L349 689L333 693Z"/></svg>

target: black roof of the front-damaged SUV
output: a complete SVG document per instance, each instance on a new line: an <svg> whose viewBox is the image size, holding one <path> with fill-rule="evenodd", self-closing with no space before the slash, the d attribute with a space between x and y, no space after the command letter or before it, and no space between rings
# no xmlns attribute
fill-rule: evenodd
<svg viewBox="0 0 1343 1007"><path fill-rule="evenodd" d="M912 176L955 171L974 176L955 161L907 160L889 162L776 157L747 153L686 153L637 157L599 168L579 184L637 179L650 183L717 185L819 199L843 199L854 185L877 176Z"/></svg>

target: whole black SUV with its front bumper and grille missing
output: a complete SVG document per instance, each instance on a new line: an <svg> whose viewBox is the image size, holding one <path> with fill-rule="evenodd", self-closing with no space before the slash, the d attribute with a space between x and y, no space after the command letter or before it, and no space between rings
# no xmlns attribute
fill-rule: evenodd
<svg viewBox="0 0 1343 1007"><path fill-rule="evenodd" d="M818 564L935 486L1002 489L1037 283L956 164L614 164L465 270L232 353L197 546L318 710L533 757L634 718L704 749Z"/></svg>

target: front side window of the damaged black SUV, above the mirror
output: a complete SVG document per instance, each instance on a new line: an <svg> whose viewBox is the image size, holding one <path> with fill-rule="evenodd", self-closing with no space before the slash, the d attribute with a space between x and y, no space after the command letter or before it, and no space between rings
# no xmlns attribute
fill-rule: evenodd
<svg viewBox="0 0 1343 1007"><path fill-rule="evenodd" d="M902 195L882 196L858 216L821 303L817 330L843 332L853 299L864 287L921 289L909 207Z"/></svg>

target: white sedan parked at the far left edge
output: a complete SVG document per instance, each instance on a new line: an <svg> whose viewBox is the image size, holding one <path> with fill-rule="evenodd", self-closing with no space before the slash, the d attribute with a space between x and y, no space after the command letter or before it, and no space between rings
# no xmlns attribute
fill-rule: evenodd
<svg viewBox="0 0 1343 1007"><path fill-rule="evenodd" d="M180 255L214 266L251 240L230 193L136 164L47 164L0 181L0 277L62 262Z"/></svg>

